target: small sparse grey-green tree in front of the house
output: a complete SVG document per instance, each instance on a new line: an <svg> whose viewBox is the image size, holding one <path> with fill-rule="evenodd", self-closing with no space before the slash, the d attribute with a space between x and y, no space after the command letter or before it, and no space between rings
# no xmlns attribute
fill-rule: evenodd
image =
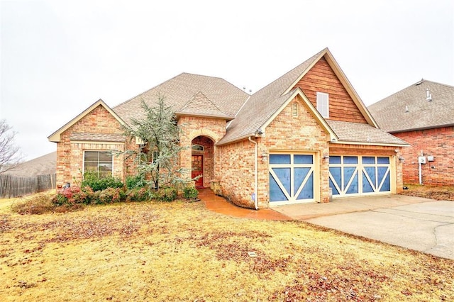
<svg viewBox="0 0 454 302"><path fill-rule="evenodd" d="M128 137L139 138L143 142L139 152L128 151L135 155L140 176L155 190L182 182L178 155L184 147L179 145L181 128L177 125L172 107L165 104L163 96L158 96L155 106L148 106L142 101L142 108L144 118L133 118L131 127L125 127Z"/></svg>

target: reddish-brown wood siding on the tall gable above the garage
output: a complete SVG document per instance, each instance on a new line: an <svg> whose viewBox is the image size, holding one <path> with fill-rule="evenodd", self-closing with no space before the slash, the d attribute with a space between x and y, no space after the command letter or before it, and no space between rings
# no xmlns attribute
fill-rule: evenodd
<svg viewBox="0 0 454 302"><path fill-rule="evenodd" d="M322 57L316 62L294 88L299 87L314 107L317 107L317 92L329 94L329 118L333 121L367 123L347 90L334 73L331 66Z"/></svg>

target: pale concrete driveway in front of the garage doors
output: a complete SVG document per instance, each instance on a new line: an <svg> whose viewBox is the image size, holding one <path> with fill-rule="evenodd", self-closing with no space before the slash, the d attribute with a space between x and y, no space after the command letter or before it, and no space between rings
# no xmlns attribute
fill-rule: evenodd
<svg viewBox="0 0 454 302"><path fill-rule="evenodd" d="M385 195L276 206L273 210L326 228L454 259L454 201Z"/></svg>

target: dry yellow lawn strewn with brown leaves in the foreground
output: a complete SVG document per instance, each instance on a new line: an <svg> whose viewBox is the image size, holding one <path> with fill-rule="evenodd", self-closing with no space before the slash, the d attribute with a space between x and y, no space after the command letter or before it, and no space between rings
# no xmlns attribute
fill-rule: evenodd
<svg viewBox="0 0 454 302"><path fill-rule="evenodd" d="M0 200L0 301L454 301L452 260L297 221L201 202L33 216L10 203Z"/></svg>

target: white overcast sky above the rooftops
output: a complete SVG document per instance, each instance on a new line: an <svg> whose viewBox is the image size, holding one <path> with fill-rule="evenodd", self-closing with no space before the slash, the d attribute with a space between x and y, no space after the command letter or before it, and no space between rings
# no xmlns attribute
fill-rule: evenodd
<svg viewBox="0 0 454 302"><path fill-rule="evenodd" d="M422 78L454 86L454 1L0 0L0 119L32 160L98 99L182 72L254 93L325 47L366 106Z"/></svg>

